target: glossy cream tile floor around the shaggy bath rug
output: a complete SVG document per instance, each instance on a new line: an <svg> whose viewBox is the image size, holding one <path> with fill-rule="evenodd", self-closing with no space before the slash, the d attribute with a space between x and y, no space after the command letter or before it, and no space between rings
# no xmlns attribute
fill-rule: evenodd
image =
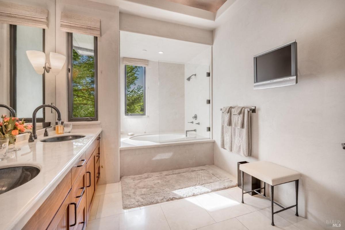
<svg viewBox="0 0 345 230"><path fill-rule="evenodd" d="M122 209L121 184L98 186L87 230L321 230L296 217L294 209L275 214L270 201L245 194L238 187L133 209ZM275 206L275 208L279 208Z"/></svg>

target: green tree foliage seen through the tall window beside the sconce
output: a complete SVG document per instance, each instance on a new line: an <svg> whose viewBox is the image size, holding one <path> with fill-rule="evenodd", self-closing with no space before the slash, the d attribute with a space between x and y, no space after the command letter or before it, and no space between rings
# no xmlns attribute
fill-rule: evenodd
<svg viewBox="0 0 345 230"><path fill-rule="evenodd" d="M95 58L73 49L73 117L95 117Z"/></svg>

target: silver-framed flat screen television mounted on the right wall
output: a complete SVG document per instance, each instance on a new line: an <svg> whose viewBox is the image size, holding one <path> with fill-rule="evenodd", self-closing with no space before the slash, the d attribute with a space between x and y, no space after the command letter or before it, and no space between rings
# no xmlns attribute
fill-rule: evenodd
<svg viewBox="0 0 345 230"><path fill-rule="evenodd" d="M297 84L296 41L254 56L254 89L293 84Z"/></svg>

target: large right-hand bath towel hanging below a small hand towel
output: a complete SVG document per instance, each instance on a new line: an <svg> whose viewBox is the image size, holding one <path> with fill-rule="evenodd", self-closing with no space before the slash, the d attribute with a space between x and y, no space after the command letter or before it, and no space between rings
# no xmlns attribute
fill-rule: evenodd
<svg viewBox="0 0 345 230"><path fill-rule="evenodd" d="M252 139L250 134L250 111L243 109L243 128L231 127L232 152L248 157L251 154ZM233 114L233 116L235 116Z"/></svg>

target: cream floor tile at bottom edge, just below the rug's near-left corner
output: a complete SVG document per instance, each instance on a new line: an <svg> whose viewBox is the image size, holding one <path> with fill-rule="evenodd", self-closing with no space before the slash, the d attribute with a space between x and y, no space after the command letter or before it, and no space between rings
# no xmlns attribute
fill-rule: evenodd
<svg viewBox="0 0 345 230"><path fill-rule="evenodd" d="M160 206L121 213L120 230L170 230Z"/></svg>

